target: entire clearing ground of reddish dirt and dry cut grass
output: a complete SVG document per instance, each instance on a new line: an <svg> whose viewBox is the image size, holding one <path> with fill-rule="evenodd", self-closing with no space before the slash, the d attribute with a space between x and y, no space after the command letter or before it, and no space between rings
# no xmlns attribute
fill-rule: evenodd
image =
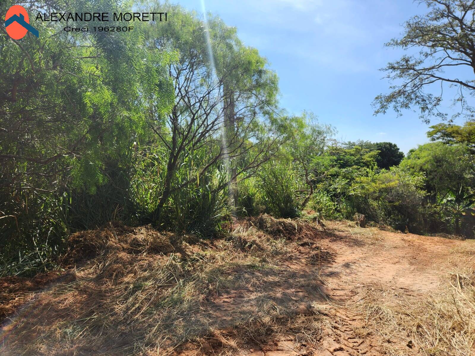
<svg viewBox="0 0 475 356"><path fill-rule="evenodd" d="M60 276L0 280L0 354L475 354L475 241L325 224L73 235Z"/></svg>

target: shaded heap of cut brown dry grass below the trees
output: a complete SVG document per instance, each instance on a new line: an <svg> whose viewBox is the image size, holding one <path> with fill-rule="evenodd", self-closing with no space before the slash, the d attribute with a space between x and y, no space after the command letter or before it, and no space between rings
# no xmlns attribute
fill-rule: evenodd
<svg viewBox="0 0 475 356"><path fill-rule="evenodd" d="M304 296L281 292L315 292L323 281L280 265L314 227L261 216L233 228L213 244L150 226L72 235L62 262L74 280L53 284L24 305L3 328L0 353L169 355L214 345L226 355L289 333L315 343L318 311L302 307ZM238 304L222 311L228 294Z"/></svg>

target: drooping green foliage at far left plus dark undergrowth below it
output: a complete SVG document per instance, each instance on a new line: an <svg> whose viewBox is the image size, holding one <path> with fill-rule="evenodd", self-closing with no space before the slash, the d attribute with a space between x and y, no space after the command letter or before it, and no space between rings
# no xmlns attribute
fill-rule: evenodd
<svg viewBox="0 0 475 356"><path fill-rule="evenodd" d="M31 14L41 4L22 5ZM48 8L122 10L103 0ZM39 38L0 36L0 250L18 271L50 266L74 229L128 214L127 183L118 188L110 167L128 174L133 142L174 100L166 69L176 54L148 47L142 24L107 34L35 27Z"/></svg>

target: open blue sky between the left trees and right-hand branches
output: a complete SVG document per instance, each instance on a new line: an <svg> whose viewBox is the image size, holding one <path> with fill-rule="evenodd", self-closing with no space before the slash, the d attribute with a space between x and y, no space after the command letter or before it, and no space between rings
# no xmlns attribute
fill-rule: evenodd
<svg viewBox="0 0 475 356"><path fill-rule="evenodd" d="M407 153L428 142L428 125L410 110L373 115L371 102L389 92L379 69L403 53L385 47L402 24L427 12L413 0L204 0L207 11L237 28L279 76L280 104L314 112L341 141L390 141ZM201 13L201 0L178 0ZM170 14L171 15L171 14ZM432 121L432 124L437 121Z"/></svg>

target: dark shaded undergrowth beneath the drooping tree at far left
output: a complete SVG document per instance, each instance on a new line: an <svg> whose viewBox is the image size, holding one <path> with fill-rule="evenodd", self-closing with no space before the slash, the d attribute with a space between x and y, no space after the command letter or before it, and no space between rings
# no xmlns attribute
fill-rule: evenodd
<svg viewBox="0 0 475 356"><path fill-rule="evenodd" d="M77 189L13 189L2 197L0 212L0 276L29 275L56 265L66 237L109 221L130 223L133 206L127 197L129 180L123 170L104 172L106 182L94 192Z"/></svg>

